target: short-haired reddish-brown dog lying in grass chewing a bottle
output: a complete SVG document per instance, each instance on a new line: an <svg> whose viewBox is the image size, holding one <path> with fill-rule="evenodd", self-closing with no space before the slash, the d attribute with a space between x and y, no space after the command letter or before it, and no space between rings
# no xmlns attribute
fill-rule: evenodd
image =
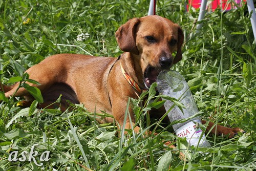
<svg viewBox="0 0 256 171"><path fill-rule="evenodd" d="M132 123L129 119L123 123L127 99L138 98L141 90L148 89L156 81L161 70L169 69L182 59L184 36L177 24L154 15L129 20L117 30L116 39L120 49L124 51L118 59L59 54L28 69L26 72L30 79L40 83L39 86L29 84L41 90L44 97L41 106L53 103L62 94L62 104L66 100L81 102L88 111L103 110L112 114L121 127L131 129L131 124L135 124L134 115L131 115ZM177 55L173 57L172 53L175 51ZM5 96L12 96L17 88L18 83L5 87ZM25 96L27 101L33 100L24 88L20 88L14 96ZM132 114L131 107L130 113ZM152 112L158 117L164 113L163 108ZM100 120L112 121L112 118ZM214 123L210 123L207 130L212 125ZM139 127L134 127L134 131L138 133ZM217 126L217 134L230 134L230 138L239 131L239 128ZM215 133L215 129L211 132Z"/></svg>

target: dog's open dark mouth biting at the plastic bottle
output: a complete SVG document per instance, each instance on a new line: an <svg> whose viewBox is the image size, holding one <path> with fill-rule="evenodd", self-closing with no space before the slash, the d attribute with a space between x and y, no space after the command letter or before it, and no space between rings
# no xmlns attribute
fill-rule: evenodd
<svg viewBox="0 0 256 171"><path fill-rule="evenodd" d="M148 66L144 71L144 84L147 89L150 88L151 84L157 81L157 76L160 73L161 69L157 69L152 66Z"/></svg>

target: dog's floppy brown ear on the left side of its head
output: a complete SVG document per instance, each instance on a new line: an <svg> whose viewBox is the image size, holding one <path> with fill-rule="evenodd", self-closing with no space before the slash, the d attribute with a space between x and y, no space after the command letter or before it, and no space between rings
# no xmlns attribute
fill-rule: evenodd
<svg viewBox="0 0 256 171"><path fill-rule="evenodd" d="M139 23L138 18L130 19L116 31L116 40L122 51L139 54L136 46L136 28Z"/></svg>

